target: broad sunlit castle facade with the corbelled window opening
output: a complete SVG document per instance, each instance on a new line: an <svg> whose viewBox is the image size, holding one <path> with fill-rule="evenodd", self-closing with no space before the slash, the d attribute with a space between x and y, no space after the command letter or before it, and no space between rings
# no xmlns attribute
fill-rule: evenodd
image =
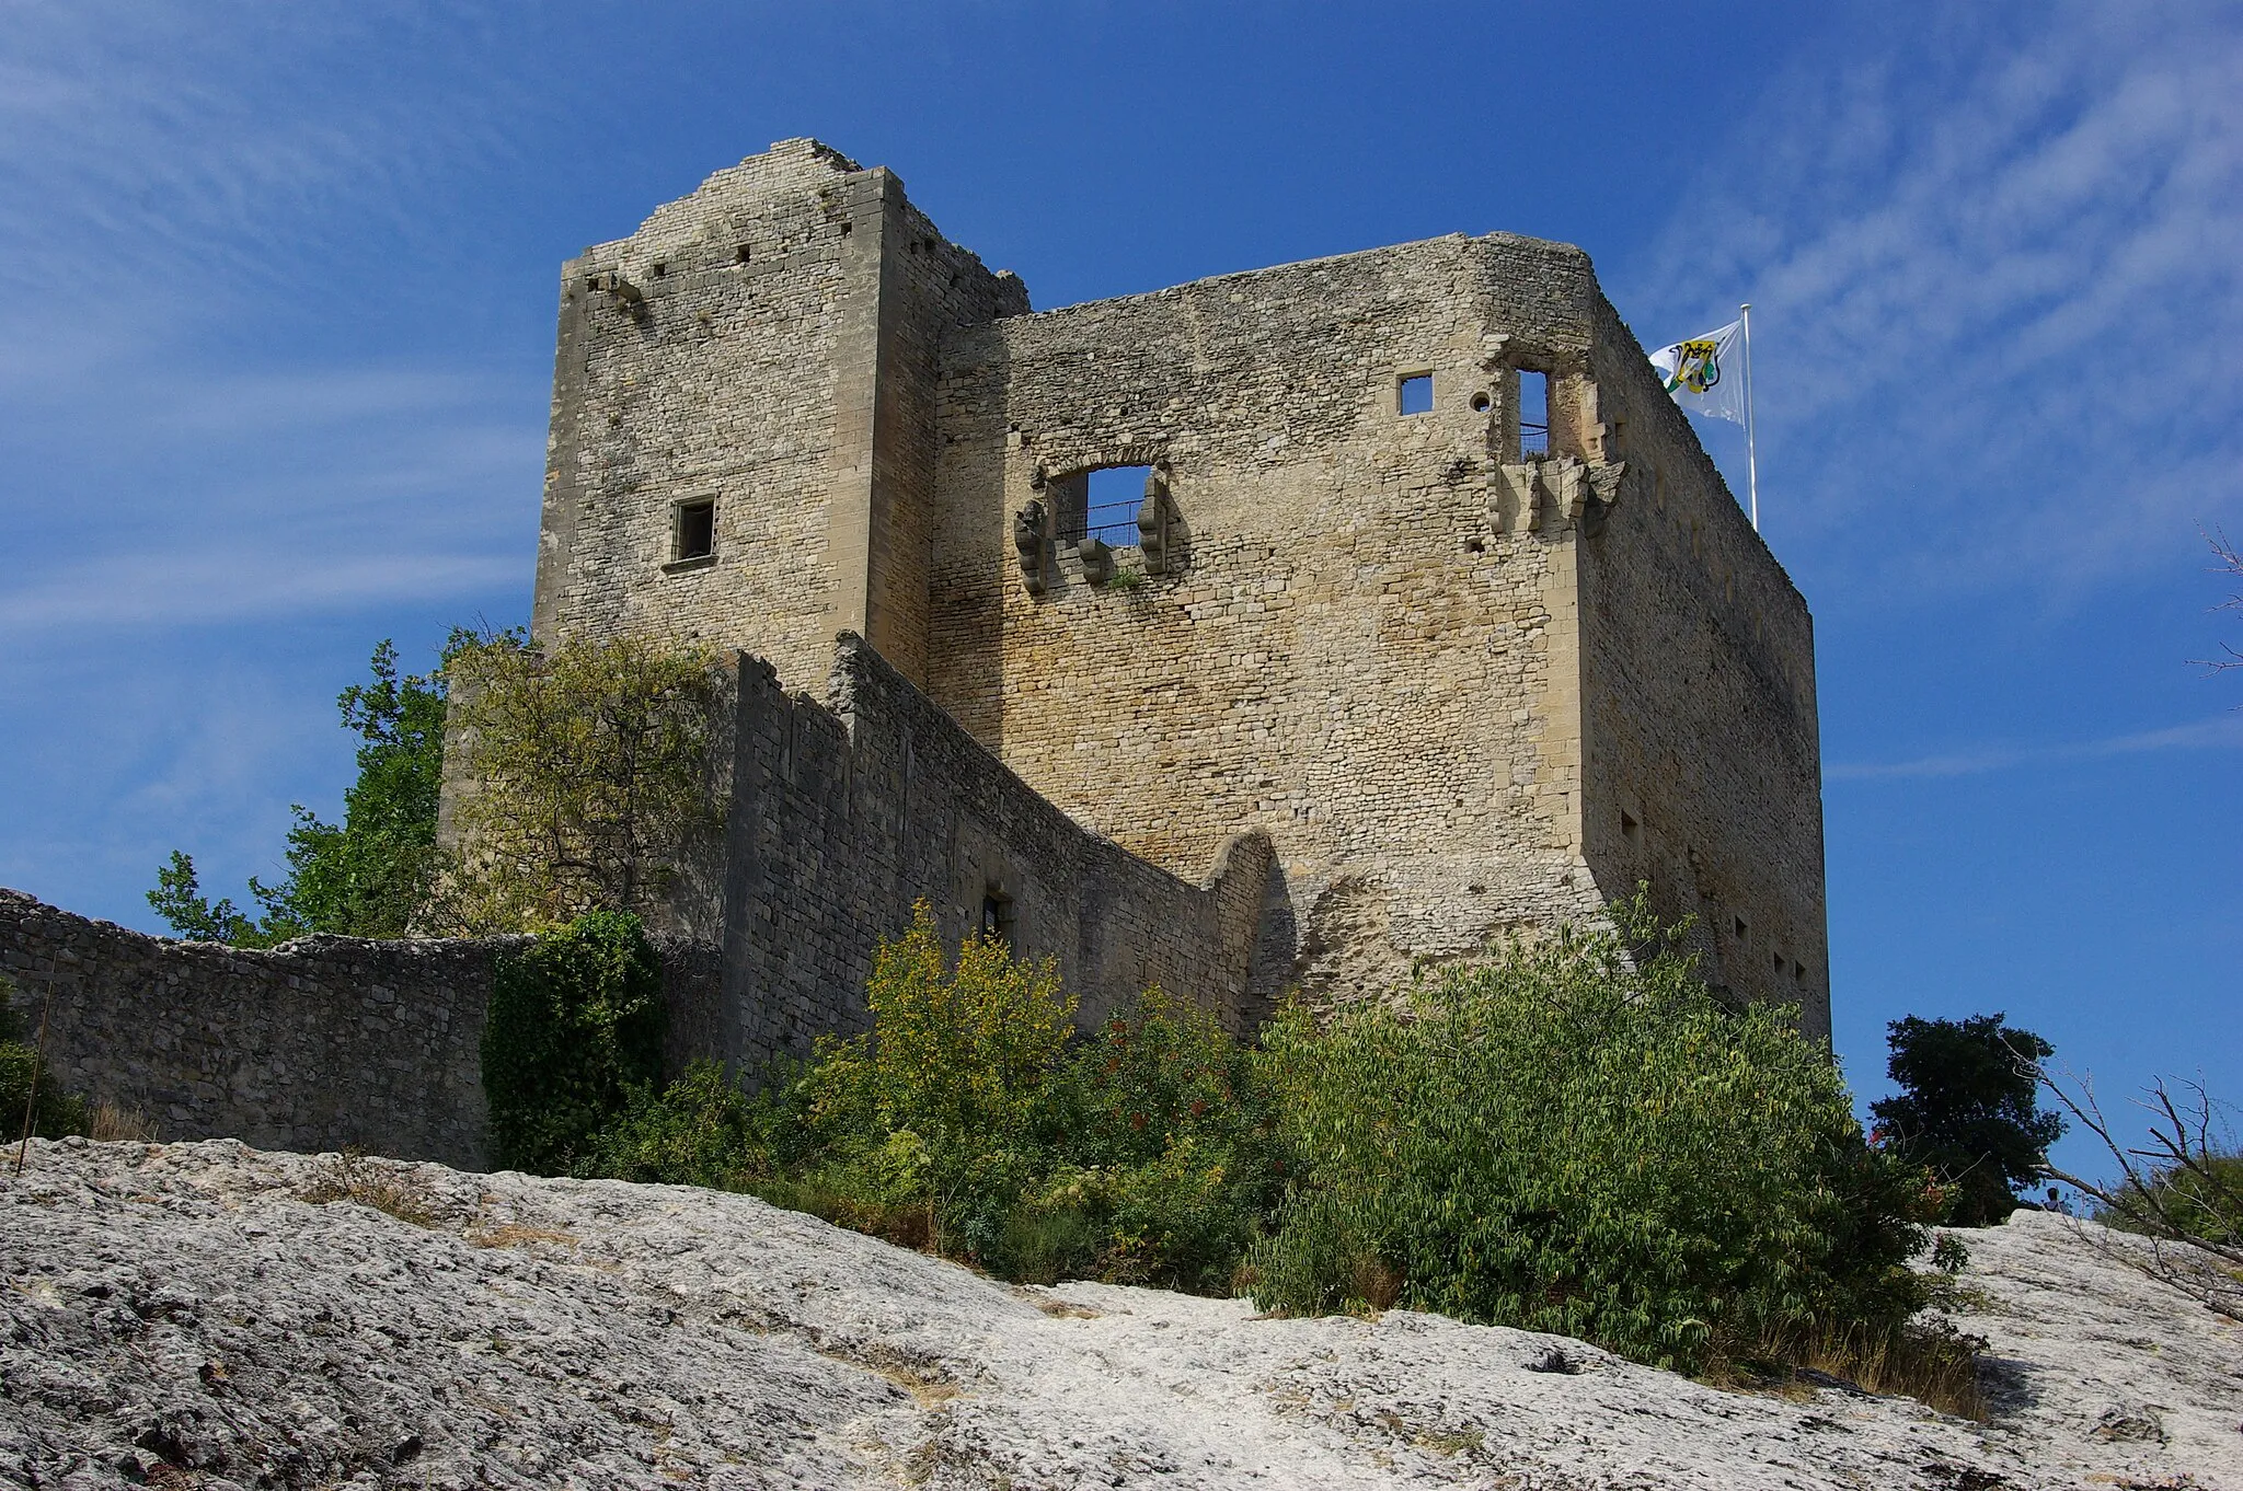
<svg viewBox="0 0 2243 1491"><path fill-rule="evenodd" d="M1505 529L1496 466L1512 359L1579 363L1597 303L1577 249L1444 238L953 334L935 700L1180 874L1267 830L1321 987L1590 910L1570 536ZM1400 415L1415 372L1433 410ZM1099 587L1061 554L1030 594L1039 475L1144 462L1178 572Z"/></svg>

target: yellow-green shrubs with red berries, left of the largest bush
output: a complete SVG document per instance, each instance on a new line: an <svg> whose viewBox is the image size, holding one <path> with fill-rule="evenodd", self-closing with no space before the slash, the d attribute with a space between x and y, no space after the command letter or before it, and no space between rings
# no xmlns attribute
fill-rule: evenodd
<svg viewBox="0 0 2243 1491"><path fill-rule="evenodd" d="M1213 1016L1148 989L1070 1049L1054 969L985 939L947 960L924 904L868 1002L866 1036L754 1096L716 1067L639 1096L590 1170L754 1191L1007 1278L1229 1287L1281 1175Z"/></svg>

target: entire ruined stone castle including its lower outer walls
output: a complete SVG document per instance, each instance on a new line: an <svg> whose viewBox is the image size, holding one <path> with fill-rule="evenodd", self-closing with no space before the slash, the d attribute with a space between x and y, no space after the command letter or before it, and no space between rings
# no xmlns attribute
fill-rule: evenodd
<svg viewBox="0 0 2243 1491"><path fill-rule="evenodd" d="M673 1074L861 1029L920 899L1083 1022L1160 982L1252 1031L1649 883L1830 1029L1806 603L1566 244L1030 312L783 141L563 269L532 626L731 655L722 832L641 908ZM489 1164L507 946L0 890L56 1081L168 1139Z"/></svg>

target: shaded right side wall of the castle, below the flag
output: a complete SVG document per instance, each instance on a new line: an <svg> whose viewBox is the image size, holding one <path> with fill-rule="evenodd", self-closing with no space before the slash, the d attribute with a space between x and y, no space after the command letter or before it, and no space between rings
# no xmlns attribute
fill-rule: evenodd
<svg viewBox="0 0 2243 1491"><path fill-rule="evenodd" d="M1626 478L1581 545L1588 859L1828 1036L1812 617L1610 307L1593 361L1581 439Z"/></svg>

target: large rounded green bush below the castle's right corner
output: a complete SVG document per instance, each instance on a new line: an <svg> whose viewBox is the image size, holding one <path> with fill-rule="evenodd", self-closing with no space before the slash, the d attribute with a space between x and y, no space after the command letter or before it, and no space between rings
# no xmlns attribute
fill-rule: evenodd
<svg viewBox="0 0 2243 1491"><path fill-rule="evenodd" d="M1254 1249L1263 1307L1400 1300L1698 1370L1924 1298L1922 1173L1864 1143L1792 1011L1725 1009L1667 942L1561 930L1265 1043L1310 1168Z"/></svg>

